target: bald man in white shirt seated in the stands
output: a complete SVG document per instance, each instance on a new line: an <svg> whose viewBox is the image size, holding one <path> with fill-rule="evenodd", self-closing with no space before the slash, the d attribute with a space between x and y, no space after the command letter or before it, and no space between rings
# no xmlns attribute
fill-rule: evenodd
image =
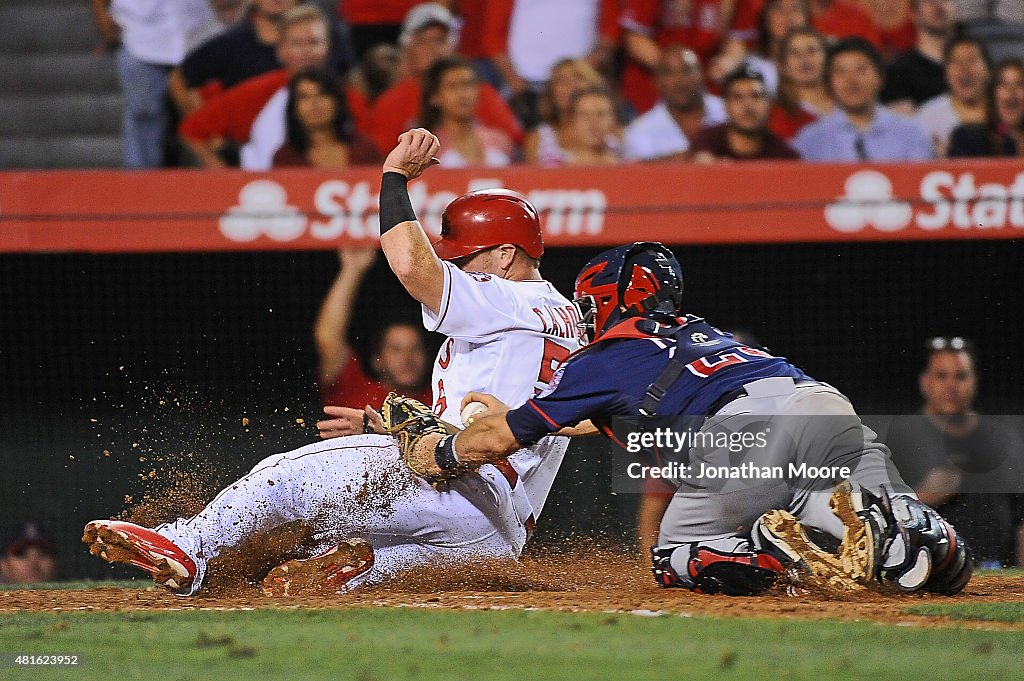
<svg viewBox="0 0 1024 681"><path fill-rule="evenodd" d="M626 158L687 159L690 138L703 127L725 123L725 104L703 90L700 59L693 50L662 50L654 71L660 100L626 128Z"/></svg>

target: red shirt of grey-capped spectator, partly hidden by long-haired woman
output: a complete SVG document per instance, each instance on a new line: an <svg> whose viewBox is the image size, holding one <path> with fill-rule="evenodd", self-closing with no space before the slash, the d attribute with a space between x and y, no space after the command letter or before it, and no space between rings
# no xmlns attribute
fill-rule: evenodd
<svg viewBox="0 0 1024 681"><path fill-rule="evenodd" d="M423 87L415 78L404 78L374 102L367 124L367 134L377 148L391 148L398 135L414 128L420 118ZM515 114L505 103L498 90L480 84L480 98L476 103L476 119L488 128L498 128L517 144L522 141L522 126Z"/></svg>

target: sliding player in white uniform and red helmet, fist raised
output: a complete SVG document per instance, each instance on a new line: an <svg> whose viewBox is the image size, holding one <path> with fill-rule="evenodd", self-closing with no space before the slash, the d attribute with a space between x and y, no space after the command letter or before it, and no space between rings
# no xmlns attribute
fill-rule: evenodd
<svg viewBox="0 0 1024 681"><path fill-rule="evenodd" d="M385 433L406 437L401 426L424 415L456 430L472 391L521 405L580 346L575 308L541 278L538 213L522 196L488 189L456 199L441 218L441 238L430 243L407 182L436 162L438 148L426 130L403 133L384 162L380 195L388 264L422 304L427 330L447 336L433 367L433 416L419 402L389 397L383 418L375 413L364 426L362 412L352 410L358 434L261 461L191 518L152 529L88 523L83 542L93 554L135 565L179 595L195 594L224 551L295 521L311 539L296 547L299 557L265 577L270 595L334 593L417 565L518 557L567 438L538 438L459 479L431 484L411 472L395 436ZM331 434L351 432L344 418L328 423Z"/></svg>

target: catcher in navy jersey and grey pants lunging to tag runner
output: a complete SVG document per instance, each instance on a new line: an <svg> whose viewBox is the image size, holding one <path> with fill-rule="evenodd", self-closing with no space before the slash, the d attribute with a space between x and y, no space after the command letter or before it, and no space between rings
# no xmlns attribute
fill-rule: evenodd
<svg viewBox="0 0 1024 681"><path fill-rule="evenodd" d="M678 492L652 548L662 586L756 594L780 576L811 572L842 589L964 589L973 571L964 540L918 501L849 400L783 357L681 314L682 292L679 262L660 244L597 256L575 284L592 342L517 409L470 393L487 413L465 430L411 433L411 466L438 479L585 419L614 438L614 417L688 416L701 437L676 469ZM654 457L665 450L649 448L662 448ZM721 471L746 471L752 483L722 483ZM807 471L828 472L821 480Z"/></svg>

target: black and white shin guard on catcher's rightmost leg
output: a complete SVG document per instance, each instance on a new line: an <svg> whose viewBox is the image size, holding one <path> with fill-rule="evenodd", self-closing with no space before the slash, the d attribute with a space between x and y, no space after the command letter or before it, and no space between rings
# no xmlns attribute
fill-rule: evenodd
<svg viewBox="0 0 1024 681"><path fill-rule="evenodd" d="M974 557L964 538L930 506L913 497L876 500L890 530L880 570L901 591L953 595L974 574Z"/></svg>

